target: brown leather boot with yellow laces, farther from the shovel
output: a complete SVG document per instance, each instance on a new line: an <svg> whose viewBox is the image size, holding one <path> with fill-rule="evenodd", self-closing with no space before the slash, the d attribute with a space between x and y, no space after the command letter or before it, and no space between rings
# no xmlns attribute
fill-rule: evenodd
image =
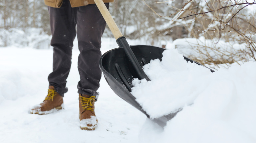
<svg viewBox="0 0 256 143"><path fill-rule="evenodd" d="M54 111L63 109L63 98L55 90L53 86L49 86L48 94L45 100L39 105L35 105L31 110L31 114L49 114Z"/></svg>

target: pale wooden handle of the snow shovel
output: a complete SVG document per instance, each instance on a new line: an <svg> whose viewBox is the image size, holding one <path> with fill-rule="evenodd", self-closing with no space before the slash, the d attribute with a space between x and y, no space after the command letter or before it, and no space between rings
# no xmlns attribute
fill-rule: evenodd
<svg viewBox="0 0 256 143"><path fill-rule="evenodd" d="M115 23L114 19L112 18L111 14L109 13L107 7L105 6L104 2L102 0L94 0L96 3L100 13L102 14L103 18L105 19L106 23L108 24L108 27L110 28L111 32L113 33L116 40L120 37L122 37L122 33L117 27L117 24Z"/></svg>

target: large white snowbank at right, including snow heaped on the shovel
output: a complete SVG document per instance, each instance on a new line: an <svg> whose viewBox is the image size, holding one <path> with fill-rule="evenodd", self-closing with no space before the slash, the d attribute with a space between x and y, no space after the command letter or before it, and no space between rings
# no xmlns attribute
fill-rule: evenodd
<svg viewBox="0 0 256 143"><path fill-rule="evenodd" d="M153 118L183 109L161 129L150 120L140 141L241 143L256 141L256 62L210 72L176 50L144 66L151 81L134 80L132 94Z"/></svg>

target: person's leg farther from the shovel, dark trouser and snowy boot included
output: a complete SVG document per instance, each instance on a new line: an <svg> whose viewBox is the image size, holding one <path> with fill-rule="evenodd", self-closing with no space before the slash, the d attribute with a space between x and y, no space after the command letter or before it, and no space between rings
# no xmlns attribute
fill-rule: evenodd
<svg viewBox="0 0 256 143"><path fill-rule="evenodd" d="M48 77L50 85L47 96L29 111L31 114L49 114L63 109L62 97L67 92L66 79L71 66L77 8L71 8L69 0L64 0L61 8L48 9L53 35L53 72Z"/></svg>

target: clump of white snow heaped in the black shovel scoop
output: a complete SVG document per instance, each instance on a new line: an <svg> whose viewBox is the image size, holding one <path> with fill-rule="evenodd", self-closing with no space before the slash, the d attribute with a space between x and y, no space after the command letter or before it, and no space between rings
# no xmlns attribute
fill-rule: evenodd
<svg viewBox="0 0 256 143"><path fill-rule="evenodd" d="M186 62L175 49L165 50L161 62L159 59L152 60L143 69L151 81L133 80L131 93L151 118L158 118L186 104L192 104L207 86L205 76L211 74L203 66ZM194 84L196 81L200 82ZM194 88L200 90L195 91Z"/></svg>

